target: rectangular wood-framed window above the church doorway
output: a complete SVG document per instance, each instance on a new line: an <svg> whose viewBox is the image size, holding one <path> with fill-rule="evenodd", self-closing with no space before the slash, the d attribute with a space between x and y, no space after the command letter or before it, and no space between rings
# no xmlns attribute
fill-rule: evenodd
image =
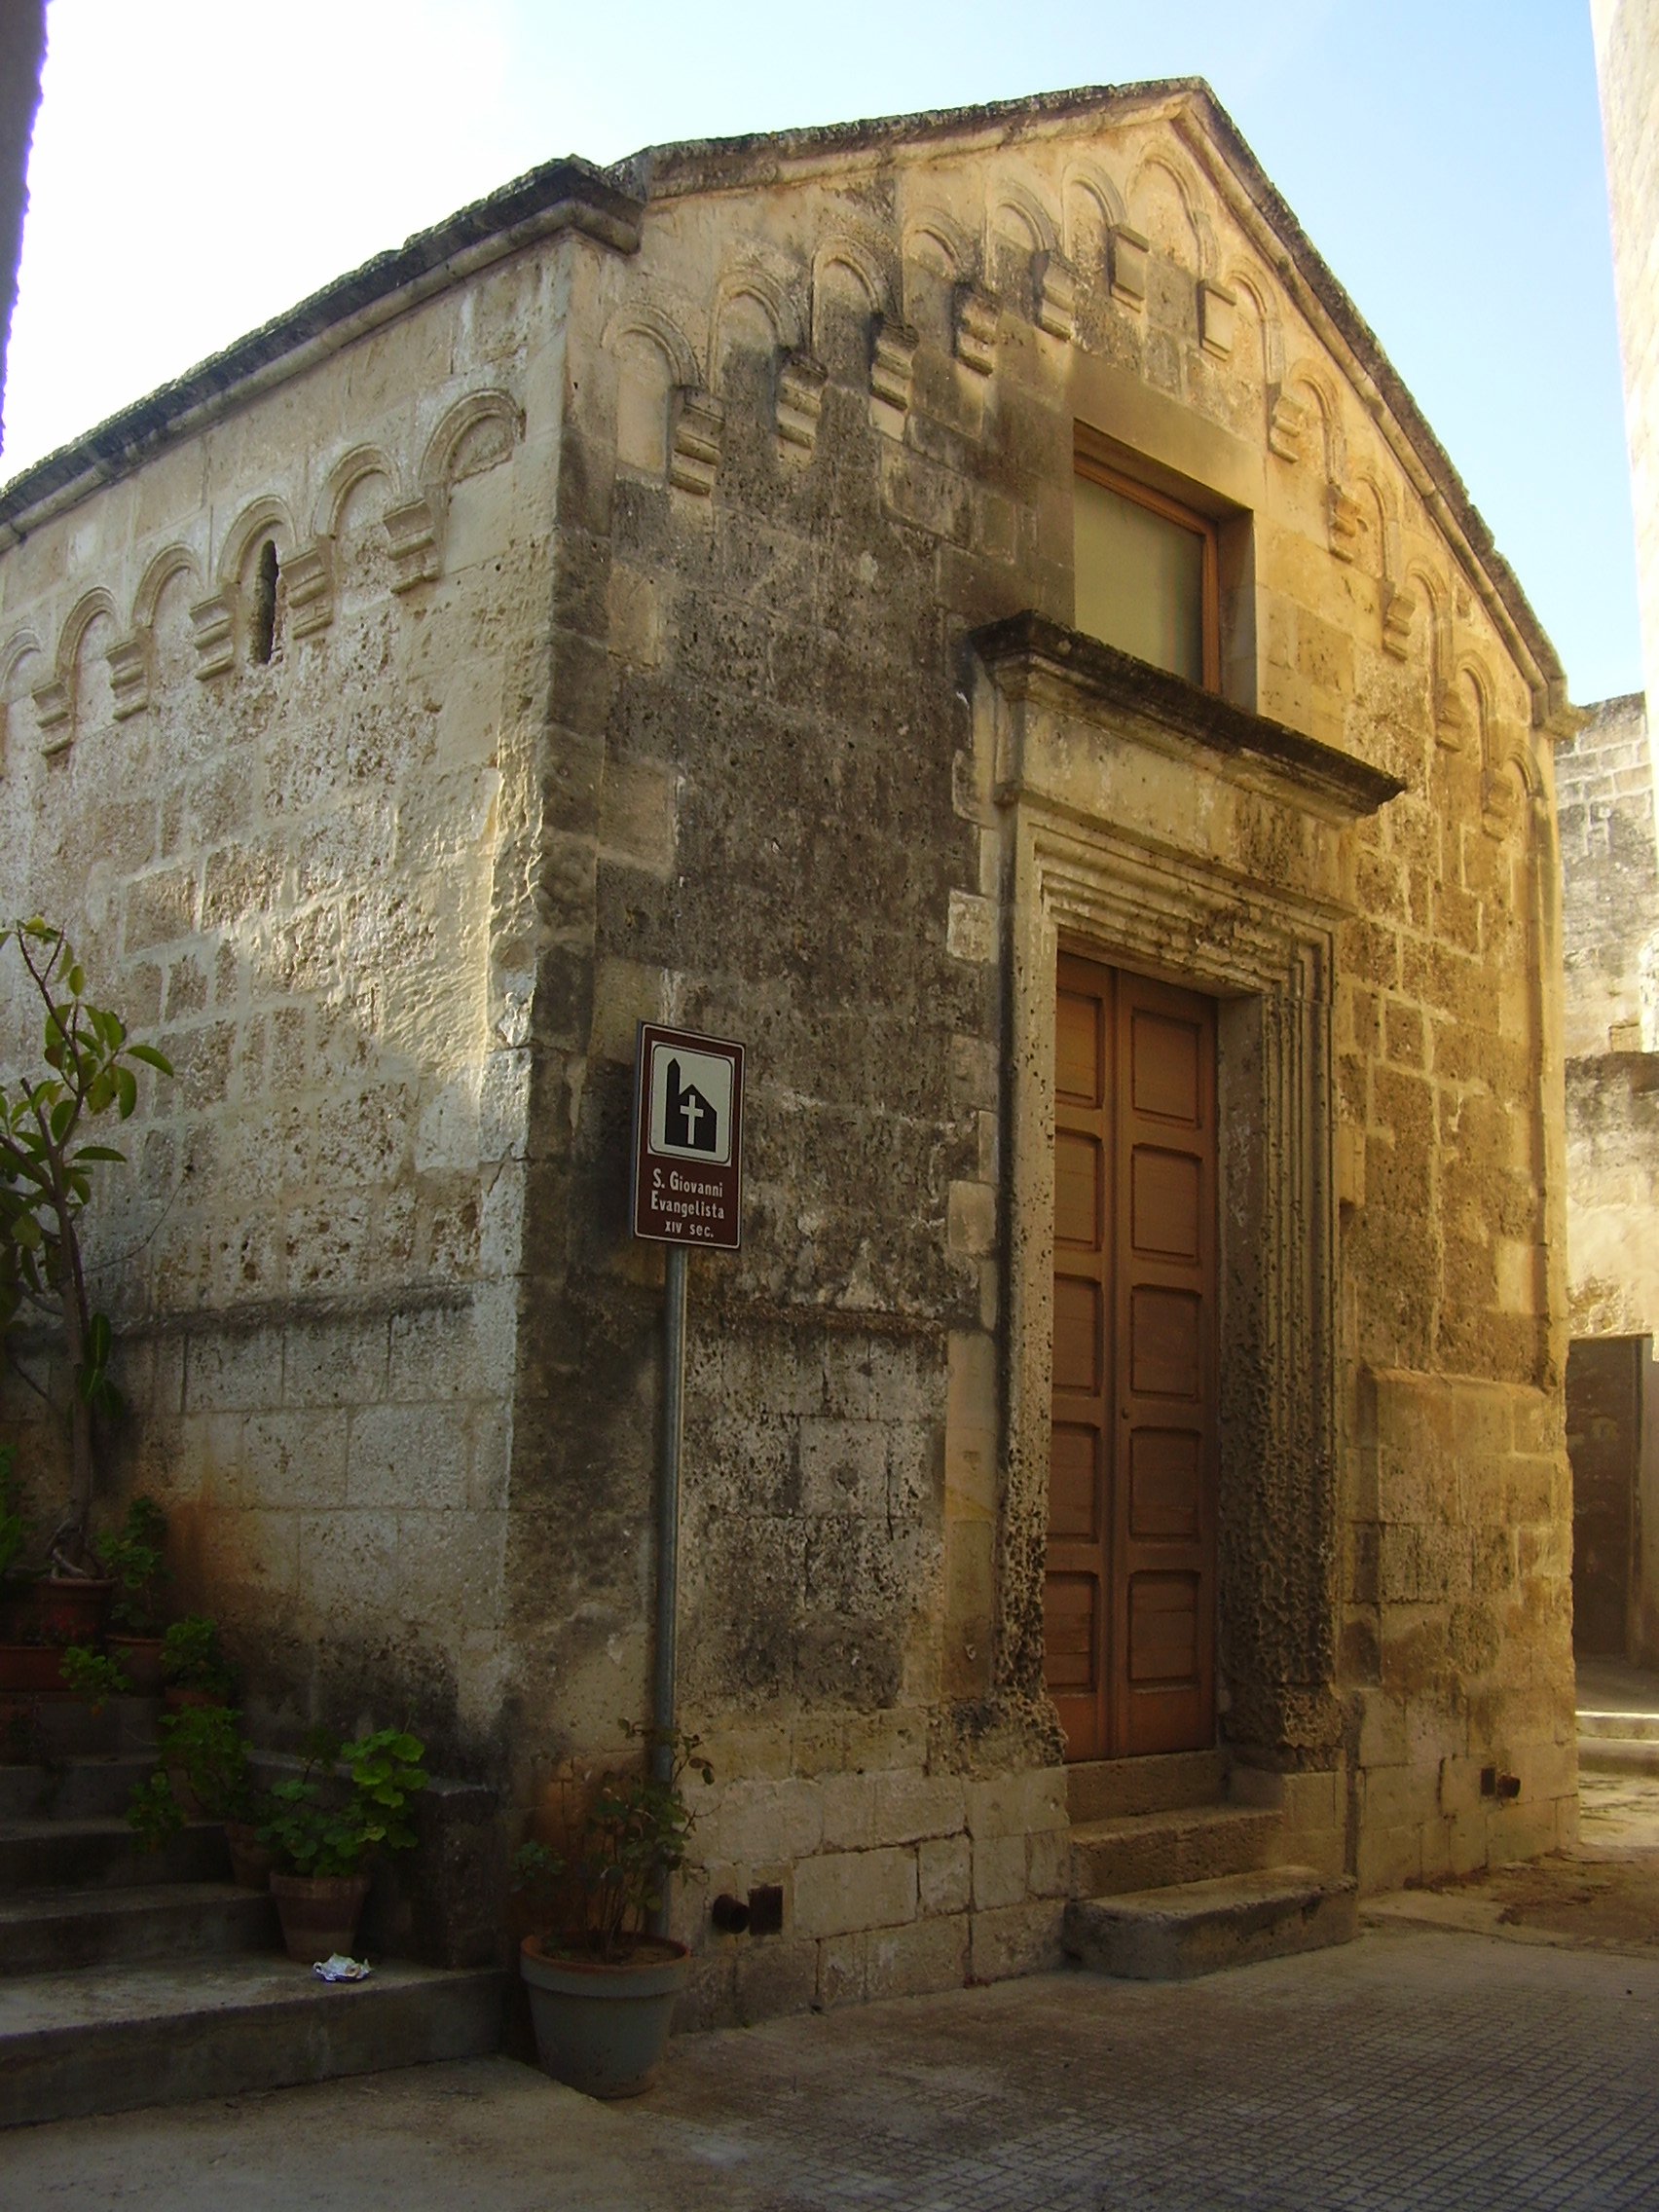
<svg viewBox="0 0 1659 2212"><path fill-rule="evenodd" d="M1102 644L1221 688L1217 526L1093 453L1073 478L1073 626Z"/></svg>

